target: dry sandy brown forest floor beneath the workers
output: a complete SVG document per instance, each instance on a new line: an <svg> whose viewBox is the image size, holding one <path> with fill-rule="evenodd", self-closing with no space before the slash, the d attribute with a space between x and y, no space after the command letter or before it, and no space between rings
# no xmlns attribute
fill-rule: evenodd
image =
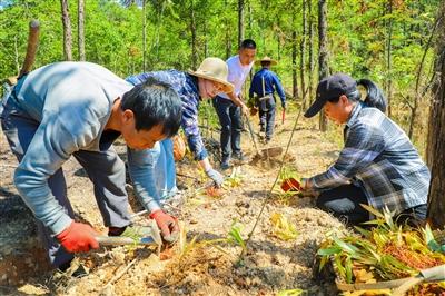
<svg viewBox="0 0 445 296"><path fill-rule="evenodd" d="M277 119L269 146L286 147L296 114L296 109L290 109L284 125ZM257 118L250 120L258 130ZM300 119L285 159L286 171L296 177L324 171L338 155L342 136L334 129L334 134L323 135L317 131L315 120ZM218 138L216 132L202 132L208 139ZM101 248L78 256L77 262L87 267L89 274L72 278L49 270L32 215L12 184L17 160L4 136L0 137L1 295L276 295L289 289L303 289L308 295L337 295L333 279L315 277L313 267L326 235L345 234L348 229L316 209L310 197L299 198L274 190L241 263L238 260L241 247L225 240L234 221L243 226L241 235L247 237L277 176L281 156L227 171L231 178L220 197L196 189L207 180L197 164L186 158L178 164L178 172L197 176L197 180L178 177L184 198L178 216L182 237L171 254L164 253L161 258L167 259L161 260L156 250L147 247ZM248 155L255 155L247 132L243 135L243 147ZM125 145L118 142L116 148L123 158ZM209 150L217 155L216 150ZM78 218L106 233L92 185L80 165L70 159L63 170L68 196ZM270 218L276 213L295 226L295 238L283 240L274 231ZM212 241L215 239L219 241ZM129 265L119 279L109 284Z"/></svg>

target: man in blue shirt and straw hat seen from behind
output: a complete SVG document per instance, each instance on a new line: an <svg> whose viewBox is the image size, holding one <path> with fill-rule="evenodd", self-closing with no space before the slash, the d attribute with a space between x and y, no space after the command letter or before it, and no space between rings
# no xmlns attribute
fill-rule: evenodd
<svg viewBox="0 0 445 296"><path fill-rule="evenodd" d="M277 75L270 71L270 66L277 62L267 56L257 62L263 68L251 79L249 98L251 99L256 95L255 105L259 109L259 125L261 132L266 132L266 142L268 142L271 139L275 126L274 92L278 92L283 109L286 109L286 96Z"/></svg>

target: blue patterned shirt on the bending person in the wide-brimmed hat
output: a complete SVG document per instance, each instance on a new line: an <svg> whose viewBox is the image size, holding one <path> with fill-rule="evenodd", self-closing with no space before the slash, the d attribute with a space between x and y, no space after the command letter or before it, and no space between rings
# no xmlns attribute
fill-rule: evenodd
<svg viewBox="0 0 445 296"><path fill-rule="evenodd" d="M184 132L186 134L188 146L194 152L196 160L205 159L208 154L202 144L201 134L198 127L198 80L186 72L177 70L146 72L130 76L126 80L136 86L146 81L150 77L171 85L176 92L179 95L182 101L181 127L184 129Z"/></svg>

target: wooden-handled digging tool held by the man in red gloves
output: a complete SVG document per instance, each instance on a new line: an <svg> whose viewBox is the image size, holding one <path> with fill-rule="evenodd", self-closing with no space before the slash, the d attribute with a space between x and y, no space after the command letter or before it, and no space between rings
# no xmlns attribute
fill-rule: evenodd
<svg viewBox="0 0 445 296"><path fill-rule="evenodd" d="M148 226L140 226L136 235L141 235L140 238L127 236L96 236L96 239L101 246L126 246L126 245L148 245L160 248L162 239L160 230L155 220L150 220Z"/></svg>

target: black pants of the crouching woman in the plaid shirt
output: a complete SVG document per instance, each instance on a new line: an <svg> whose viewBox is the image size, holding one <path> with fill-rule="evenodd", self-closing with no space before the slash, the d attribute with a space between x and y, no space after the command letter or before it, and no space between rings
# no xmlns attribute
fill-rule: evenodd
<svg viewBox="0 0 445 296"><path fill-rule="evenodd" d="M354 185L344 185L322 193L317 198L317 207L332 213L335 217L346 219L350 225L369 220L369 213L360 204L368 205L365 193ZM419 205L398 214L394 220L412 226L426 220L427 205Z"/></svg>

